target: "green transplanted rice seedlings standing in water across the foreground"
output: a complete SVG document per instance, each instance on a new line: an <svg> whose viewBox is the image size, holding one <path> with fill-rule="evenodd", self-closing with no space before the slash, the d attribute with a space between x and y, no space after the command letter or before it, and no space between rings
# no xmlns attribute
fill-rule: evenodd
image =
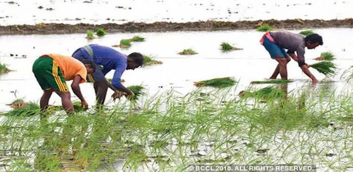
<svg viewBox="0 0 353 172"><path fill-rule="evenodd" d="M249 97L241 99L228 97L228 92L196 90L180 96L170 91L148 97L139 110L122 101L95 115L6 116L0 130L6 137L0 145L3 152L11 152L4 157L12 161L3 163L8 163L8 171L48 172L114 171L117 160L130 171L150 168L149 162L156 162L151 169L166 172L185 171L195 162L323 160L323 171L351 167L350 162L334 163L353 154L345 144L353 142L353 109L347 106L353 104L352 92L318 98L324 91L301 91L281 98L276 87L246 91Z"/></svg>

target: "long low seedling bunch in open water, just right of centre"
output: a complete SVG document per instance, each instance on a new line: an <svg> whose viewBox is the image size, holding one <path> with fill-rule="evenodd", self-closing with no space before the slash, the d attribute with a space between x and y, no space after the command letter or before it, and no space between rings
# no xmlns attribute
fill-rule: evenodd
<svg viewBox="0 0 353 172"><path fill-rule="evenodd" d="M204 80L199 82L194 82L195 86L212 86L217 88L224 88L228 86L234 86L236 81L232 77L225 77L225 78L215 78L211 80Z"/></svg>

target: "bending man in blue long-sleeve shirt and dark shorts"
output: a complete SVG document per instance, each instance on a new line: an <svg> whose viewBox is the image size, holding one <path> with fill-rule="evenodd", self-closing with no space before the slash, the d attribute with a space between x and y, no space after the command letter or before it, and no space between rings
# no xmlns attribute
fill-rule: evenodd
<svg viewBox="0 0 353 172"><path fill-rule="evenodd" d="M140 53L131 53L126 56L113 48L91 44L77 49L72 56L78 60L89 59L98 64L95 72L87 76L87 81L94 83L96 100L99 105L104 104L108 87L115 91L113 97L121 92L127 96L134 96L133 92L121 83L121 76L125 70L134 70L143 65L144 58ZM110 83L105 75L111 70L115 72Z"/></svg>

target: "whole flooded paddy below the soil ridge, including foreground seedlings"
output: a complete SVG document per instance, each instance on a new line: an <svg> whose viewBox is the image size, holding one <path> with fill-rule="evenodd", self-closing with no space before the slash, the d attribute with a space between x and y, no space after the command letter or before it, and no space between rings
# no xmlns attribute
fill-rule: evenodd
<svg viewBox="0 0 353 172"><path fill-rule="evenodd" d="M321 81L311 85L292 60L288 77L293 82L279 85L286 95L264 99L238 96L274 86L250 84L269 78L277 65L258 42L263 32L255 30L108 33L89 41L85 34L2 35L0 61L13 71L0 75L0 169L188 171L195 164L314 164L317 171L352 171L353 92L342 74L353 65L353 41L346 39L353 30L313 31L323 36L324 45L307 50L306 63L330 51L337 75L326 78L309 68ZM116 49L163 62L124 73L125 86L147 89L136 104L124 98L113 102L108 91L106 109L96 112L93 86L85 83L87 112L48 111L40 117L36 109L31 116L5 115L15 99L38 103L42 90L31 72L37 57L70 56L87 44L112 46L134 35L146 41ZM243 50L224 53L222 42ZM178 55L188 48L198 54ZM224 89L193 85L220 77L238 83ZM59 97L53 95L50 104L60 105Z"/></svg>

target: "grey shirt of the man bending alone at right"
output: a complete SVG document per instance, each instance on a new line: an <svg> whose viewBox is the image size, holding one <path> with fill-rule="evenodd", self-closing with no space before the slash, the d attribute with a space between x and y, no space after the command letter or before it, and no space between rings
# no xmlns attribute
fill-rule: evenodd
<svg viewBox="0 0 353 172"><path fill-rule="evenodd" d="M306 43L304 35L281 30L272 32L272 36L279 47L287 49L288 54L297 52L299 63L305 63L304 54Z"/></svg>

